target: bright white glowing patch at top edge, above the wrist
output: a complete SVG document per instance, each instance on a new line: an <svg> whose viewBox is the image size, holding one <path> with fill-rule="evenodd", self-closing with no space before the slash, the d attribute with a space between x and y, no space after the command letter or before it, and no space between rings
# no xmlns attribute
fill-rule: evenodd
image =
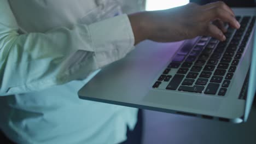
<svg viewBox="0 0 256 144"><path fill-rule="evenodd" d="M146 10L170 9L187 3L189 3L189 0L147 0Z"/></svg>

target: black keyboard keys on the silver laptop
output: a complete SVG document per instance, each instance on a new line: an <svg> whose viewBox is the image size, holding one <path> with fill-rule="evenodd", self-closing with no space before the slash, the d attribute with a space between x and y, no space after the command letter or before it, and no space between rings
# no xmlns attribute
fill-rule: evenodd
<svg viewBox="0 0 256 144"><path fill-rule="evenodd" d="M224 96L233 79L255 23L255 16L236 16L239 29L228 28L226 40L201 37L193 47L183 47L159 76L153 88ZM169 75L171 69L177 73Z"/></svg>

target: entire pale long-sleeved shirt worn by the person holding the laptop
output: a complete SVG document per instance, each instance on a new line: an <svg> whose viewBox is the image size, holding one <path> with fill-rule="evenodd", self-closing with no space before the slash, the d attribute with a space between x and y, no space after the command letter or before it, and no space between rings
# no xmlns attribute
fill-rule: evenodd
<svg viewBox="0 0 256 144"><path fill-rule="evenodd" d="M112 5L129 9L120 2L0 1L0 95L5 95L0 128L9 139L26 144L125 140L137 109L77 95L95 70L134 47L127 15L106 19Z"/></svg>

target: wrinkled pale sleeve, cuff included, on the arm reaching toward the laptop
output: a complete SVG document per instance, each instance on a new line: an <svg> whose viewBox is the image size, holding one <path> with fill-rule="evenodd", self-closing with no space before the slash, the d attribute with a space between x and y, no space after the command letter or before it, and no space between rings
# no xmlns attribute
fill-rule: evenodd
<svg viewBox="0 0 256 144"><path fill-rule="evenodd" d="M0 13L0 95L85 79L134 48L127 15L69 29L19 34L7 0L0 1Z"/></svg>

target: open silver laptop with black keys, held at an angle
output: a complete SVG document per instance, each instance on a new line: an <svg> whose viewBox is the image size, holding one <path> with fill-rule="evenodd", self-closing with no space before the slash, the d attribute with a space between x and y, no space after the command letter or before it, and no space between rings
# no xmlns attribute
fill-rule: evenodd
<svg viewBox="0 0 256 144"><path fill-rule="evenodd" d="M97 71L80 99L246 122L256 89L255 8L234 8L240 29L227 40L197 37L143 41L125 58Z"/></svg>

